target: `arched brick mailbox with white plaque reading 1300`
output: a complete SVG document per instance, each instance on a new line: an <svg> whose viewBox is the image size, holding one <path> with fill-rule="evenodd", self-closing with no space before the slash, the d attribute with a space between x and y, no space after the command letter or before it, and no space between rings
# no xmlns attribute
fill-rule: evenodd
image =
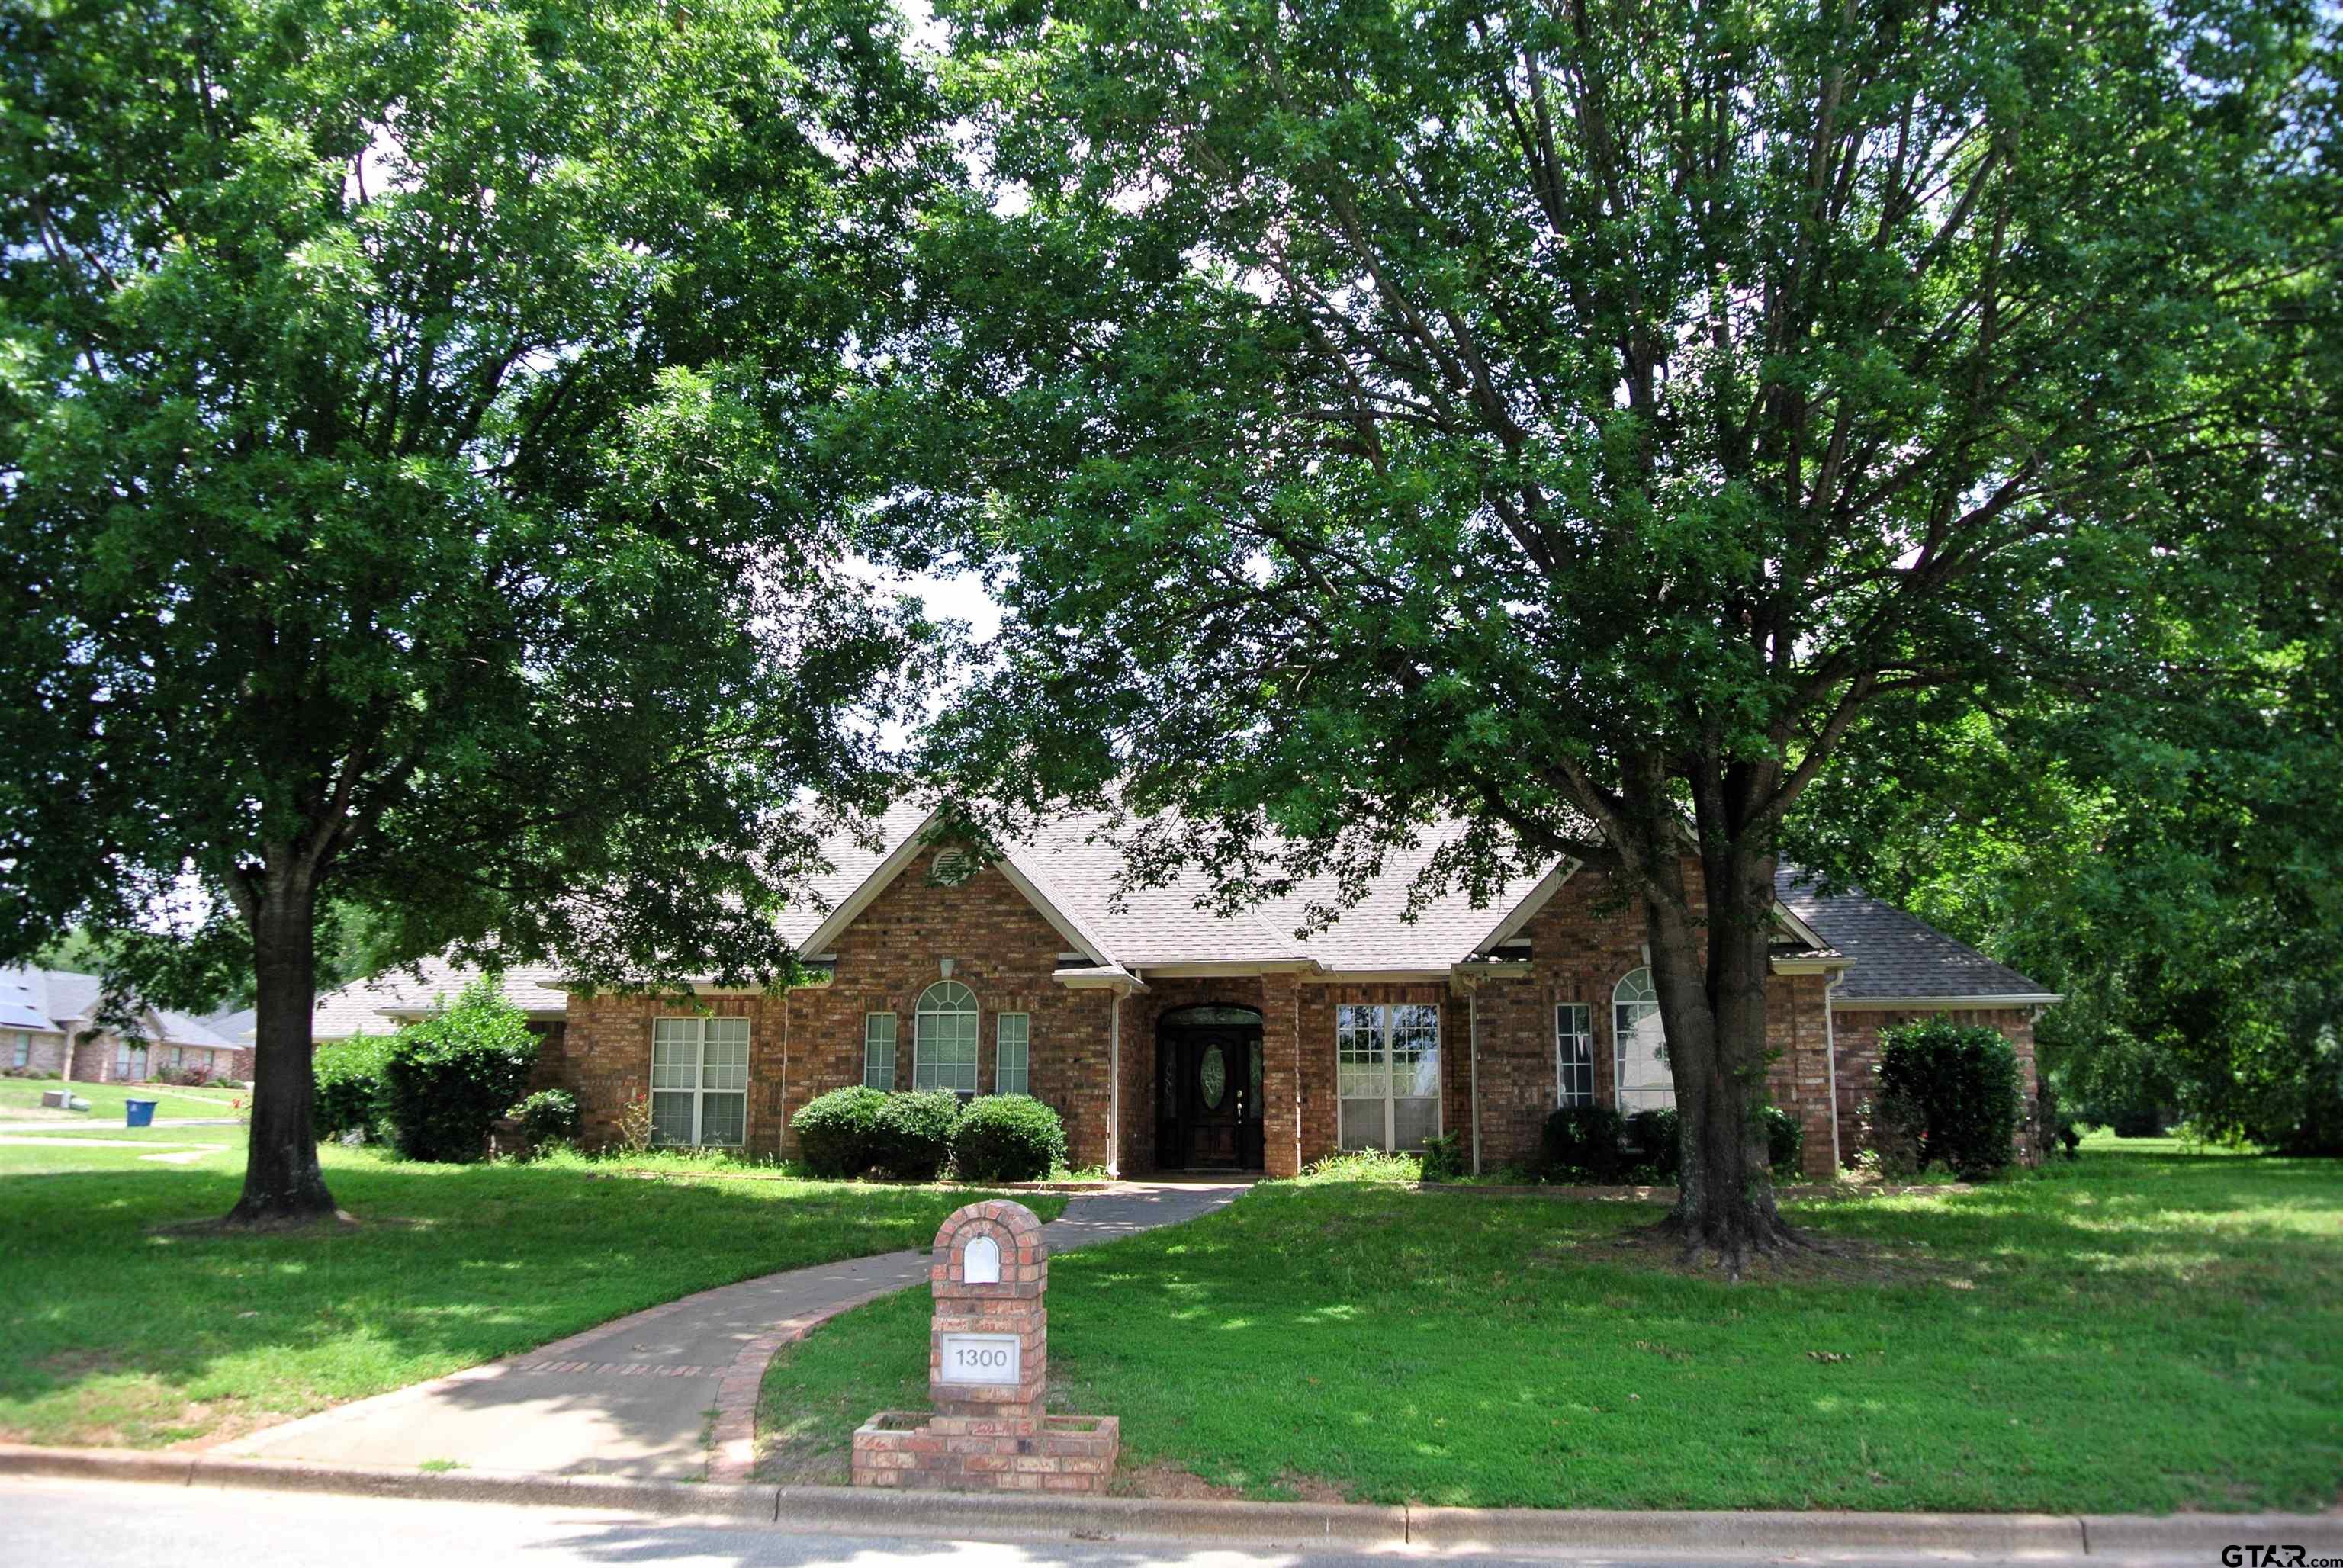
<svg viewBox="0 0 2343 1568"><path fill-rule="evenodd" d="M1104 1493L1113 1416L1050 1416L1050 1242L1022 1202L972 1202L935 1233L928 1263L928 1399L855 1432L855 1486Z"/></svg>

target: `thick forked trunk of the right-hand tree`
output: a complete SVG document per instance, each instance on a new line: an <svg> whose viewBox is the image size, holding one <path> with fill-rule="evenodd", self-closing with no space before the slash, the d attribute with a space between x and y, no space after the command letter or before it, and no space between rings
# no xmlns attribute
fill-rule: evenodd
<svg viewBox="0 0 2343 1568"><path fill-rule="evenodd" d="M1706 945L1689 912L1680 855L1654 855L1652 881L1659 888L1645 898L1682 1153L1666 1228L1682 1238L1687 1252L1715 1252L1739 1270L1753 1252L1797 1242L1774 1209L1764 1125L1757 1120L1767 1069L1774 865L1769 855L1736 851L1706 860Z"/></svg>

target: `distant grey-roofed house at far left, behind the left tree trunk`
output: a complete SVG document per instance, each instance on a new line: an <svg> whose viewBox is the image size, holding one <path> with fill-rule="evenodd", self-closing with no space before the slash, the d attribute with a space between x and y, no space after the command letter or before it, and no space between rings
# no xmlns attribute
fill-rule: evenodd
<svg viewBox="0 0 2343 1568"><path fill-rule="evenodd" d="M0 968L0 1069L75 1083L148 1083L166 1069L251 1078L251 1045L169 1008L138 1008L136 1034L98 1022L103 982L56 968Z"/></svg>

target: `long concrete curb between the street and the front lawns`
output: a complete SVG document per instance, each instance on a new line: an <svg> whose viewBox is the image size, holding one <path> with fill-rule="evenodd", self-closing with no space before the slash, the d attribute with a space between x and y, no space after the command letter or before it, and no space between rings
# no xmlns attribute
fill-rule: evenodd
<svg viewBox="0 0 2343 1568"><path fill-rule="evenodd" d="M925 1493L853 1486L722 1486L630 1477L499 1470L377 1470L230 1460L136 1448L0 1444L0 1477L143 1481L253 1491L344 1493L429 1502L508 1502L609 1509L665 1519L776 1523L822 1535L1057 1540L1209 1540L1256 1549L1415 1547L1434 1552L1666 1552L1764 1556L1797 1552L1947 1552L2003 1556L2113 1556L2216 1552L2235 1542L2343 1549L2343 1512L2329 1514L1851 1514L1851 1512L1607 1512L1518 1507L1375 1507L1361 1502L1186 1502L1150 1498L1047 1498Z"/></svg>

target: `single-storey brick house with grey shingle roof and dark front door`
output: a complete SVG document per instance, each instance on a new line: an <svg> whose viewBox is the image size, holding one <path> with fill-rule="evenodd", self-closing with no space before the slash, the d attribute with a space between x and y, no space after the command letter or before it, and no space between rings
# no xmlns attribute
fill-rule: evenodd
<svg viewBox="0 0 2343 1568"><path fill-rule="evenodd" d="M1408 919L1429 855L1392 855L1364 902L1293 935L1328 886L1221 919L1193 886L1115 893L1120 855L1068 820L982 870L895 811L881 851L839 872L787 930L825 980L696 998L588 994L555 970L508 977L560 1017L541 1083L576 1092L588 1139L649 1095L661 1141L797 1153L790 1116L825 1090L1029 1092L1066 1118L1075 1165L1293 1174L1338 1148L1455 1134L1476 1170L1528 1158L1558 1104L1673 1102L1642 907L1600 872L1525 879L1490 907L1462 893ZM825 914L827 912L827 914ZM2057 996L1863 893L1785 877L1767 1027L1774 1104L1806 1130L1806 1172L1856 1151L1879 1027L1949 1013L2017 1045ZM380 982L377 982L380 984ZM438 977L455 991L462 975ZM433 987L375 994L426 1013ZM321 1001L319 1036L361 1003Z"/></svg>

